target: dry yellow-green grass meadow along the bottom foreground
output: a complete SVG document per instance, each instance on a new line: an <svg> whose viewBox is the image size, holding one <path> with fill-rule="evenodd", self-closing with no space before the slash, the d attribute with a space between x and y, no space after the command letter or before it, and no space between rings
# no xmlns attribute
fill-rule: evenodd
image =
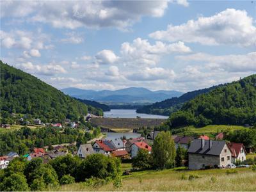
<svg viewBox="0 0 256 192"><path fill-rule="evenodd" d="M127 166L127 164L126 164ZM223 170L163 170L134 172L122 177L122 187L113 183L97 188L76 183L61 186L57 191L256 191L256 172L249 168L237 168L237 173L227 175ZM194 174L199 178L188 180ZM182 179L186 175L187 179ZM50 189L55 190L56 189Z"/></svg>

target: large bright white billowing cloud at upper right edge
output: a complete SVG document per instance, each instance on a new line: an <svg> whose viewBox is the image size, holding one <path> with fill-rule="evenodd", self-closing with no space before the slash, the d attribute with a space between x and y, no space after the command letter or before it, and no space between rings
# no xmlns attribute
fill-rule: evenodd
<svg viewBox="0 0 256 192"><path fill-rule="evenodd" d="M199 17L180 26L149 35L157 40L198 42L204 45L256 45L256 27L245 10L227 9L211 17Z"/></svg>

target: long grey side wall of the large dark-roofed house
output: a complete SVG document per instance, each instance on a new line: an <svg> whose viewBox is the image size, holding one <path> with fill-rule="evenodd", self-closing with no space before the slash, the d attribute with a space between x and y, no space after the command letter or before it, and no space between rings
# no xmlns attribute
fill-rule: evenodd
<svg viewBox="0 0 256 192"><path fill-rule="evenodd" d="M205 166L214 166L220 164L219 156L208 156L201 154L188 154L189 170L200 170Z"/></svg>

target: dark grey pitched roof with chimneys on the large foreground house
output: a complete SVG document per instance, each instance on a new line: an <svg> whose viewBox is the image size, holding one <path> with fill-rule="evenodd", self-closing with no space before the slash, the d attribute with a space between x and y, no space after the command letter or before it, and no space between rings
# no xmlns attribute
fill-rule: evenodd
<svg viewBox="0 0 256 192"><path fill-rule="evenodd" d="M225 146L225 141L212 141L212 147L209 147L210 140L204 140L204 147L201 147L202 140L193 140L188 149L189 153L193 154L205 154L211 156L220 156L223 147Z"/></svg>

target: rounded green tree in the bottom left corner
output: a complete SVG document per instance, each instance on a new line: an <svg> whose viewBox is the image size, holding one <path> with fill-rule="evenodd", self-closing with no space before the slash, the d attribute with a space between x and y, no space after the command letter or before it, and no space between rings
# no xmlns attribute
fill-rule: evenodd
<svg viewBox="0 0 256 192"><path fill-rule="evenodd" d="M19 173L5 177L0 184L0 191L29 191L26 177Z"/></svg>

